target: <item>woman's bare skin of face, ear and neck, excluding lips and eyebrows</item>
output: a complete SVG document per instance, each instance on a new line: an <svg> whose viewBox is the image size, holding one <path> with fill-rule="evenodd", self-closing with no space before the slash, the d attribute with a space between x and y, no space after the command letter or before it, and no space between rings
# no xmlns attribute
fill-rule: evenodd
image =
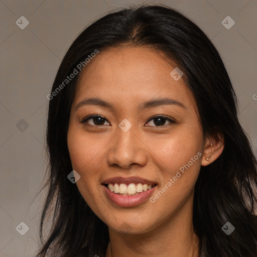
<svg viewBox="0 0 257 257"><path fill-rule="evenodd" d="M221 154L223 139L204 140L192 92L183 77L175 81L170 76L175 67L160 52L146 47L108 48L80 74L70 113L68 148L73 170L81 176L77 181L80 193L109 227L106 257L198 256L192 223L194 185L201 165ZM89 97L108 101L114 109L84 105L75 110ZM180 101L185 108L138 109L144 101L164 97ZM81 123L89 114L99 114L104 120L94 123L91 118ZM158 119L150 120L156 114L176 123L164 119L158 126ZM132 124L127 132L118 126L123 119ZM101 186L112 177L139 176L157 183L155 195L198 152L202 156L154 203L147 199L135 207L120 207L107 198Z"/></svg>

